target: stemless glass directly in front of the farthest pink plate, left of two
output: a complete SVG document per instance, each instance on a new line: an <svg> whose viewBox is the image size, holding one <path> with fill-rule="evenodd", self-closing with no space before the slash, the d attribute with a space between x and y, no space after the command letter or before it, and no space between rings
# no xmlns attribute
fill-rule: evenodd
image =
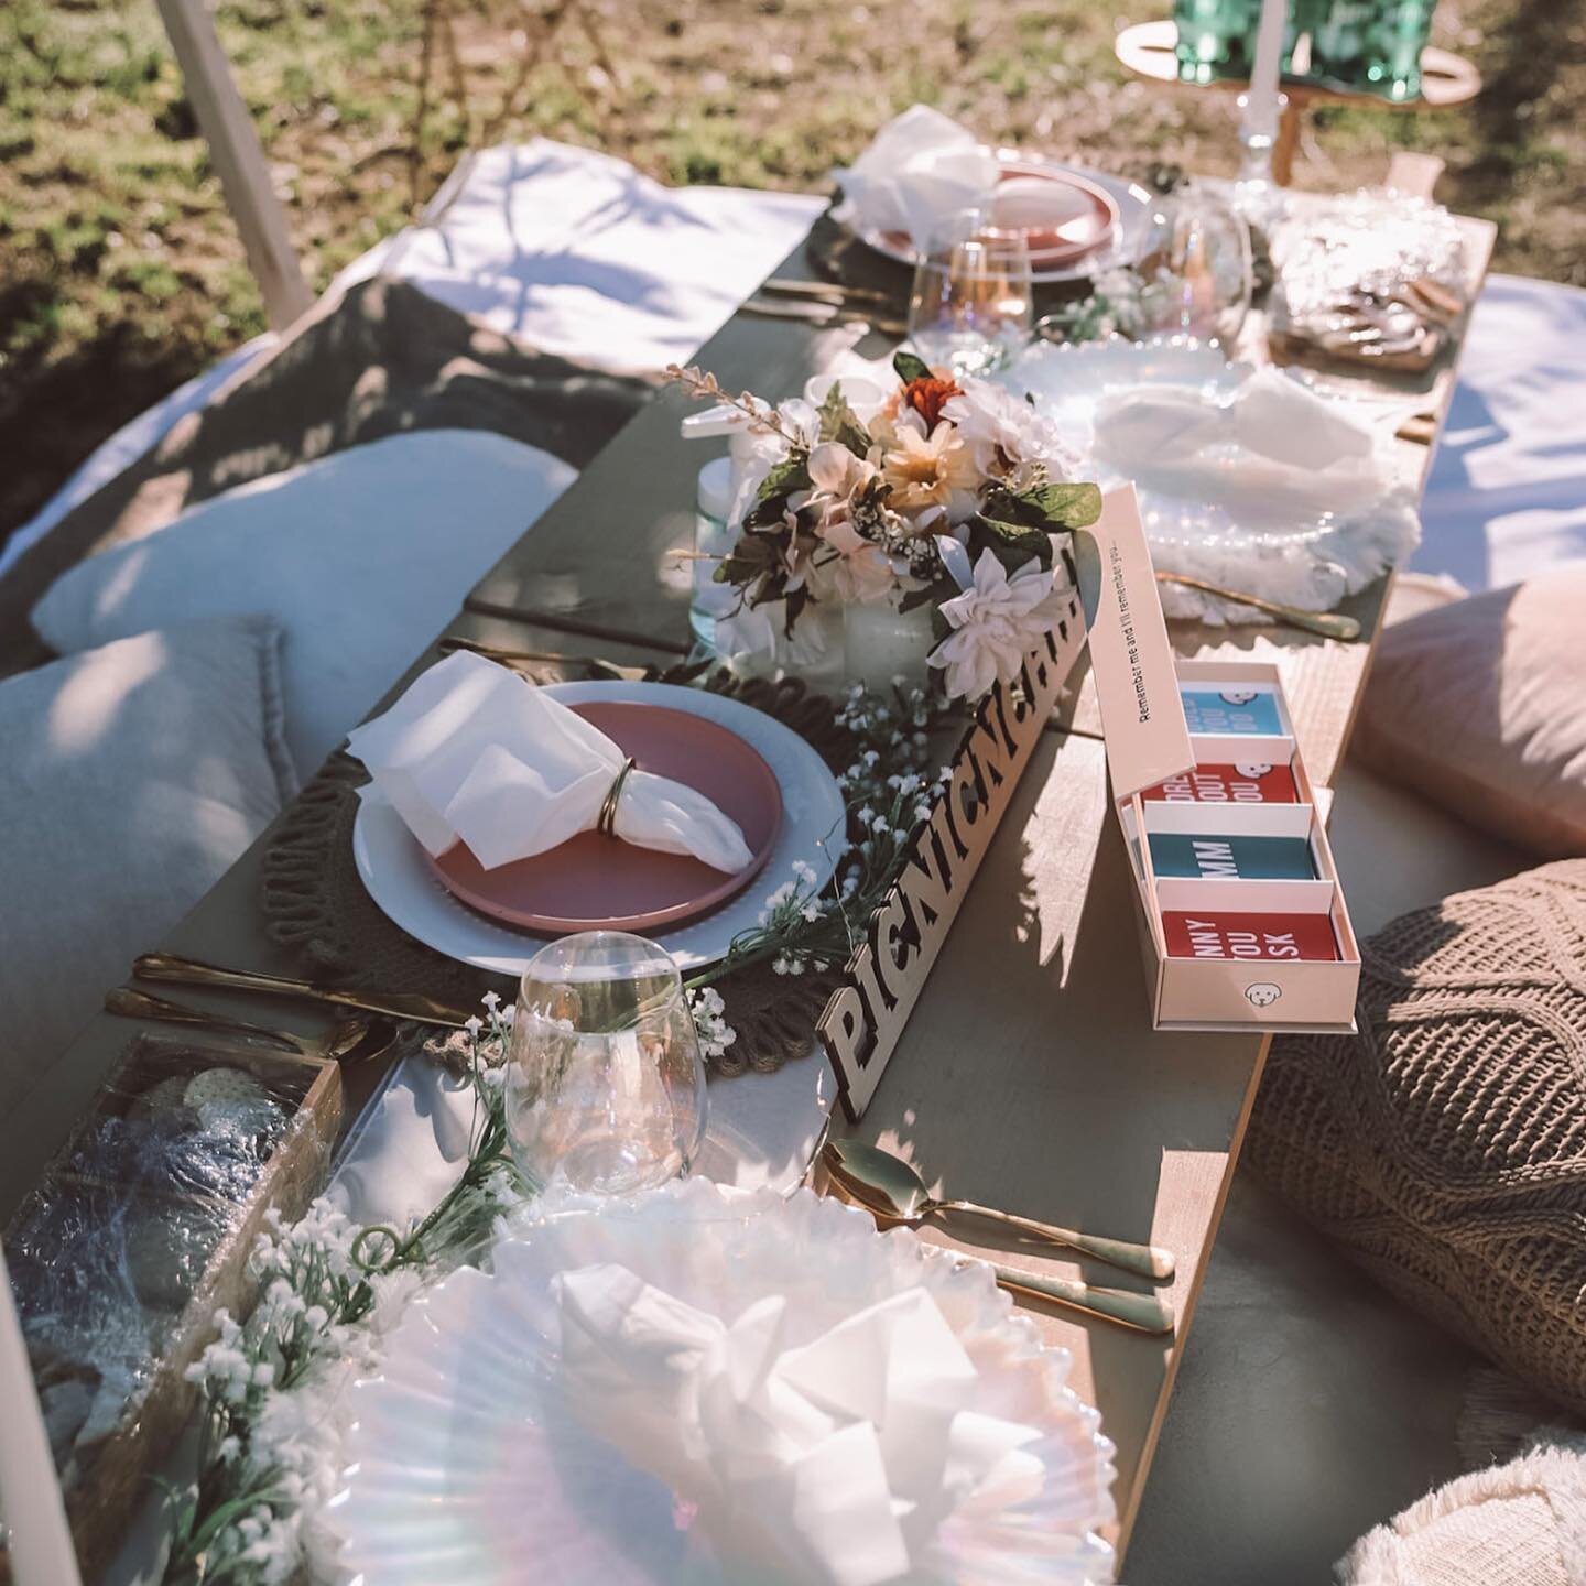
<svg viewBox="0 0 1586 1586"><path fill-rule="evenodd" d="M914 271L909 339L933 368L988 374L1029 341L1034 289L1023 236L971 236Z"/></svg>

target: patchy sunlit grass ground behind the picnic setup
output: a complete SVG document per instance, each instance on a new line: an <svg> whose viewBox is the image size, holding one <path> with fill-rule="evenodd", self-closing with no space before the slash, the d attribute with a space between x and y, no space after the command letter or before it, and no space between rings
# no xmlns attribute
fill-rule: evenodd
<svg viewBox="0 0 1586 1586"><path fill-rule="evenodd" d="M917 100L1109 170L1228 173L1237 152L1229 95L1131 81L1113 59L1117 30L1167 0L1123 16L1090 0L582 0L525 75L552 5L224 0L316 287L463 147L534 133L672 182L803 190ZM1351 187L1389 149L1435 151L1440 195L1500 224L1496 268L1586 285L1586 0L1445 0L1434 40L1480 67L1480 98L1318 111L1297 182ZM260 328L154 0L3 0L0 541L97 441Z"/></svg>

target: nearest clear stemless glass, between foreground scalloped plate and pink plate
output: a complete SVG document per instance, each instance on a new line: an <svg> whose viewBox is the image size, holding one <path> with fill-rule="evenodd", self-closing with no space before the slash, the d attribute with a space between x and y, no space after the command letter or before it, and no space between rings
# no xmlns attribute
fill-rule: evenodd
<svg viewBox="0 0 1586 1586"><path fill-rule="evenodd" d="M584 931L523 971L508 1047L506 1124L539 1186L633 1194L688 1172L706 1126L704 1063L668 953Z"/></svg>

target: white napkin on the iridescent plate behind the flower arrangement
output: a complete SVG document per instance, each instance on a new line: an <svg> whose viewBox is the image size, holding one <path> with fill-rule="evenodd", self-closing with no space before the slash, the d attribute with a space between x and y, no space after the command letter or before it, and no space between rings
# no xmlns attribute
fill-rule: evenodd
<svg viewBox="0 0 1586 1586"><path fill-rule="evenodd" d="M1305 390L1280 370L1261 368L1226 403L1190 387L1140 385L1096 406L1096 450L1156 465L1191 462L1237 446L1289 468L1331 468L1372 455L1370 428L1343 403Z"/></svg>

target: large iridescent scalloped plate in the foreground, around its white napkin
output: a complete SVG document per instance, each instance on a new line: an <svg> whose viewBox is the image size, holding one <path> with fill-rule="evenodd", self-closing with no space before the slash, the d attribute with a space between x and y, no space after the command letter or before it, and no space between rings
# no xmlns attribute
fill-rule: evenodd
<svg viewBox="0 0 1586 1586"><path fill-rule="evenodd" d="M877 1234L810 1191L782 1201L691 1180L525 1220L496 1247L493 1277L463 1270L416 1302L384 1373L355 1389L347 1486L328 1515L358 1586L726 1586L668 1486L565 1402L550 1280L600 1262L717 1316L787 1294L790 1345L925 1288L977 1369L974 1408L1036 1427L1026 1450L1045 1480L1015 1507L950 1515L893 1586L1112 1580L1098 1535L1113 1515L1112 1443L1064 1383L1067 1351L1040 1347L988 1267L904 1229Z"/></svg>

